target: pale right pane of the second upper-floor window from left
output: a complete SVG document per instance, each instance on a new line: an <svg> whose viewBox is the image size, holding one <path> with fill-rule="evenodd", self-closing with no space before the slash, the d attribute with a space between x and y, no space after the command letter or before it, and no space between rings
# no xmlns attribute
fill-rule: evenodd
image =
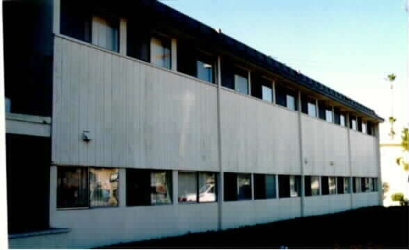
<svg viewBox="0 0 409 250"><path fill-rule="evenodd" d="M171 42L168 38L156 36L152 38L152 56L154 65L170 69L171 67Z"/></svg>

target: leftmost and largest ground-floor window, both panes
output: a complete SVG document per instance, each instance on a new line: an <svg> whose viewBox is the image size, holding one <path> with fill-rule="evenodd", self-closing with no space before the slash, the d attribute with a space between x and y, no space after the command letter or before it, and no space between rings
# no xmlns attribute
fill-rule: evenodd
<svg viewBox="0 0 409 250"><path fill-rule="evenodd" d="M57 208L118 206L118 169L58 167Z"/></svg>

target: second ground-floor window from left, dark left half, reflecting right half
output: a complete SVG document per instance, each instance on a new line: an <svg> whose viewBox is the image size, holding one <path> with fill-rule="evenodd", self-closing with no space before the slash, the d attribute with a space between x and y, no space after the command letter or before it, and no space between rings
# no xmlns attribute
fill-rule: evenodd
<svg viewBox="0 0 409 250"><path fill-rule="evenodd" d="M171 171L127 169L127 206L154 206L171 203Z"/></svg>

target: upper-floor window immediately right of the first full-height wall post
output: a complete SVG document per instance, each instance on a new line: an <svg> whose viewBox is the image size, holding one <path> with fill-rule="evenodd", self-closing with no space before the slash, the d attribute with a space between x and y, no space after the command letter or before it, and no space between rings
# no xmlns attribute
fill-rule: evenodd
<svg viewBox="0 0 409 250"><path fill-rule="evenodd" d="M249 94L247 70L232 66L229 62L223 62L221 75L223 87Z"/></svg>

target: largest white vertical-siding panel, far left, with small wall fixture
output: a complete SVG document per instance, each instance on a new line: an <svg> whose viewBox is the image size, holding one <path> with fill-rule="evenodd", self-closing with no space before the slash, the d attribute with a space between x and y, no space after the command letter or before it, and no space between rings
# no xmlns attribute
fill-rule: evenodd
<svg viewBox="0 0 409 250"><path fill-rule="evenodd" d="M55 47L56 165L218 171L216 85L63 38Z"/></svg>

